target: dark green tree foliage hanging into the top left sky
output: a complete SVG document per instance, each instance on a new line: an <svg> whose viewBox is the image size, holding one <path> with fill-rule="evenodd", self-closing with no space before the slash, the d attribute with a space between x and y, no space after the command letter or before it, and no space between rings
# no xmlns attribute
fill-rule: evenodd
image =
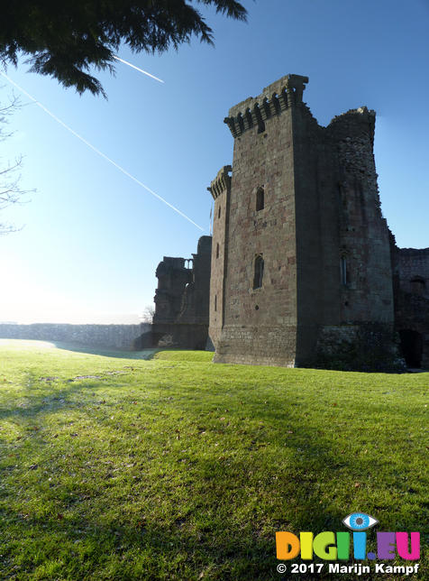
<svg viewBox="0 0 429 581"><path fill-rule="evenodd" d="M246 10L235 0L196 0L238 20ZM31 71L58 78L78 93L105 95L91 67L114 72L114 52L121 43L132 51L178 49L195 34L213 42L212 29L185 0L20 0L3 3L0 60L16 65L30 55Z"/></svg>

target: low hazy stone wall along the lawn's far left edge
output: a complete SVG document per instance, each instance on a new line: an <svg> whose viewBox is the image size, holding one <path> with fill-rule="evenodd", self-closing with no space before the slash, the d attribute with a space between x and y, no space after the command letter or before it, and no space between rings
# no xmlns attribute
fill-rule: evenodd
<svg viewBox="0 0 429 581"><path fill-rule="evenodd" d="M141 333L148 331L150 327L151 325L147 323L141 325L0 324L0 337L132 349L135 339L141 336Z"/></svg>

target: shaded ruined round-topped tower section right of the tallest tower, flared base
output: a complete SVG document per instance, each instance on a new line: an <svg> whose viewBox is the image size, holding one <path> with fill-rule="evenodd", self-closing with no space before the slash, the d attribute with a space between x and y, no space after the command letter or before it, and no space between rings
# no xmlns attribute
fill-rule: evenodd
<svg viewBox="0 0 429 581"><path fill-rule="evenodd" d="M321 238L324 317L316 361L324 367L330 360L343 369L386 371L403 366L394 333L392 256L380 209L374 124L374 112L361 107L335 117L324 129L332 163L321 175L330 183L329 199L335 208L325 223L332 235ZM328 190L321 208L329 208L326 194ZM333 246L327 264L329 239Z"/></svg>

